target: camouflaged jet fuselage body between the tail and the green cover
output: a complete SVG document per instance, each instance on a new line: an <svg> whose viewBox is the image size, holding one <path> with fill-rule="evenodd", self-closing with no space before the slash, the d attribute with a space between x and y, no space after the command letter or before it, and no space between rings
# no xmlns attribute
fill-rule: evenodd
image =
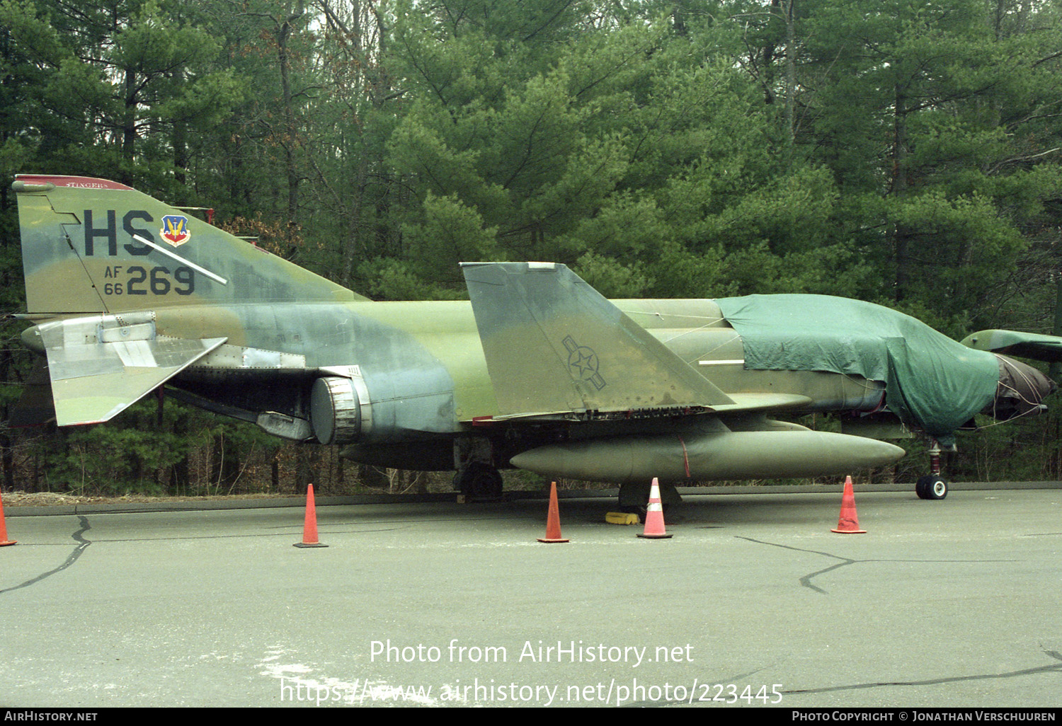
<svg viewBox="0 0 1062 726"><path fill-rule="evenodd" d="M710 300L622 300L618 306L724 391L806 397L794 407L798 412L869 411L880 404L881 386L854 377L744 370L740 338ZM667 422L585 420L583 426L543 422L528 429L496 420L502 411L465 301L182 307L155 314L159 334L227 339L170 383L232 407L223 413L252 420L266 412L309 420L308 381L357 366L364 382L362 403L369 405L355 440L339 443L357 444L348 453L367 463L446 469L453 467L456 436L487 436L508 453L555 440L559 430L566 439L595 438L660 430ZM536 385L530 383L529 399ZM291 437L306 433L298 429Z"/></svg>

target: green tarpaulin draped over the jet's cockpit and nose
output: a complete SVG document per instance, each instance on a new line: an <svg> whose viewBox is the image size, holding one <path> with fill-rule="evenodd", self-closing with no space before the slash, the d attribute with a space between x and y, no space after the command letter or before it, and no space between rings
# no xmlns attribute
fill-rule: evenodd
<svg viewBox="0 0 1062 726"><path fill-rule="evenodd" d="M828 370L884 381L889 410L937 438L949 438L995 396L994 355L895 310L828 295L716 302L741 335L747 368Z"/></svg>

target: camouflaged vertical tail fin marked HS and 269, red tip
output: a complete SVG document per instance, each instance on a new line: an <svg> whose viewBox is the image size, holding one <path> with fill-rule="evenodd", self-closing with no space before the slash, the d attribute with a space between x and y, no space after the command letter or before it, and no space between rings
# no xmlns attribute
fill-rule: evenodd
<svg viewBox="0 0 1062 726"><path fill-rule="evenodd" d="M116 182L19 175L13 189L31 313L358 298Z"/></svg>

